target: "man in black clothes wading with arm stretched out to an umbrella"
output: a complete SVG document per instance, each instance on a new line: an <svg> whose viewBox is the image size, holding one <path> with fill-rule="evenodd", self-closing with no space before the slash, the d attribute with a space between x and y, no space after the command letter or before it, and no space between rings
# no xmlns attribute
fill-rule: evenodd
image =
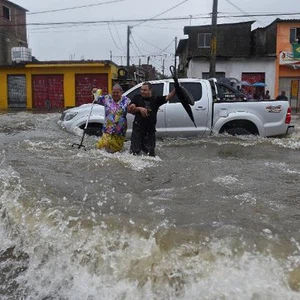
<svg viewBox="0 0 300 300"><path fill-rule="evenodd" d="M130 146L132 154L144 152L146 155L155 156L157 111L174 95L175 89L167 96L153 96L151 83L142 84L140 95L134 96L128 106L128 112L135 115Z"/></svg>

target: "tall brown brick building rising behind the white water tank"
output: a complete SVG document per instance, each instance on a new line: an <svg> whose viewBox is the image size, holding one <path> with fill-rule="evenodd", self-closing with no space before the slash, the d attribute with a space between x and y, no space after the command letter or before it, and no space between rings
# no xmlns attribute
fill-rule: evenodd
<svg viewBox="0 0 300 300"><path fill-rule="evenodd" d="M13 47L28 47L26 11L11 1L0 0L0 65L12 62Z"/></svg>

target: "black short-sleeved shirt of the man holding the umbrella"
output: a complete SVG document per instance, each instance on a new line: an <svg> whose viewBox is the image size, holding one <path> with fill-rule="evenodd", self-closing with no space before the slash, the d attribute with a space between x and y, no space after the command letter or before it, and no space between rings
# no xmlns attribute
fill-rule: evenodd
<svg viewBox="0 0 300 300"><path fill-rule="evenodd" d="M130 104L135 104L136 107L144 107L148 109L148 117L142 117L140 112L135 114L133 126L139 126L148 132L155 132L157 121L157 111L159 107L166 103L166 96L152 96L143 98L141 95L136 95L131 100Z"/></svg>

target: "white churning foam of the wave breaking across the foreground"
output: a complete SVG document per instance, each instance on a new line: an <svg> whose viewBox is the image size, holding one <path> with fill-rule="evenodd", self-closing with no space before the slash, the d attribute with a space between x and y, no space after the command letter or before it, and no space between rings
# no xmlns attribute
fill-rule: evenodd
<svg viewBox="0 0 300 300"><path fill-rule="evenodd" d="M113 154L106 156L110 160ZM234 176L218 180L222 178L224 184L237 182ZM31 199L18 173L5 166L5 159L0 165L0 187L0 249L15 246L28 255L26 268L15 278L14 292L24 299L300 299L289 283L300 262L296 239L291 243L298 247L289 257L241 251L226 236L206 236L165 248L168 240L159 241L159 232L179 230L166 220L148 232L131 218L114 228L105 219L95 223L67 215L50 205L54 199L49 196ZM168 196L173 189L160 192ZM130 195L127 198L130 201ZM245 193L236 199L251 203L253 197ZM269 228L261 234L274 238ZM239 247L243 245L241 238ZM0 261L0 267L5 263ZM17 260L15 267L19 267Z"/></svg>

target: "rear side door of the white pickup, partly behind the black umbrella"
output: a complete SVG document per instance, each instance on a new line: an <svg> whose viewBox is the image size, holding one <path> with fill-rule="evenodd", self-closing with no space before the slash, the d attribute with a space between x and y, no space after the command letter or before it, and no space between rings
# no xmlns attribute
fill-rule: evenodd
<svg viewBox="0 0 300 300"><path fill-rule="evenodd" d="M194 126L178 97L175 96L165 105L167 134L168 136L202 136L208 130L209 95L205 94L207 93L207 89L202 89L202 84L199 81L180 82L180 84L194 97L195 104L191 108L197 128ZM173 88L174 83L170 82L169 91L172 91Z"/></svg>

